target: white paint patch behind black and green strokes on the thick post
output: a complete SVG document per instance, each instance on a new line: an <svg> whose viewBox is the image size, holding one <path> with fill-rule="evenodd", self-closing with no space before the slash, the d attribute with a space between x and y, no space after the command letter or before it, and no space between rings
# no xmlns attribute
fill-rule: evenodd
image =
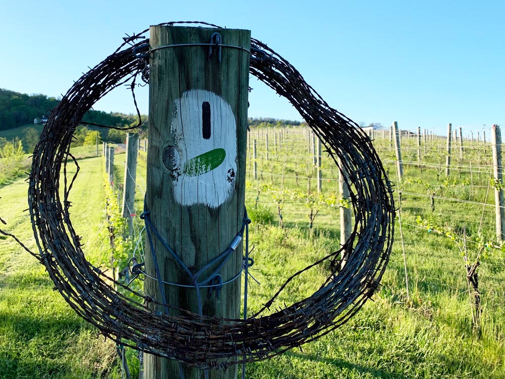
<svg viewBox="0 0 505 379"><path fill-rule="evenodd" d="M210 104L210 138L203 137L204 102ZM174 106L176 112L172 114L170 128L179 155L174 157L174 162L179 163L178 170L174 172L174 198L185 206L205 204L217 208L231 196L235 188L237 123L233 111L223 98L203 89L184 92ZM226 152L224 160L217 167L197 175L184 172L186 162L215 149L224 149ZM208 166L205 167L208 169Z"/></svg>

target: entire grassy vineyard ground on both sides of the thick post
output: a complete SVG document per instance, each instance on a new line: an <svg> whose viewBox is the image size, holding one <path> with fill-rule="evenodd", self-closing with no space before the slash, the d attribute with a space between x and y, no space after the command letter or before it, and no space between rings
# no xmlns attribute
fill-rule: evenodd
<svg viewBox="0 0 505 379"><path fill-rule="evenodd" d="M273 147L273 133L278 130L269 132L268 160L264 139L259 144L259 179L251 175L250 159L247 168L247 207L250 213L254 213L255 208L262 210L257 212L256 223L251 227L250 244L255 246L251 255L255 266L251 273L261 283L251 282L251 312L259 309L294 271L337 249L340 243L338 207L317 203L319 214L310 228L311 204L291 196L296 191L308 194L309 185L312 190L315 188L304 132L301 128L290 129L282 145L276 148ZM251 136L254 133L253 130ZM437 180L441 159L439 145L443 143L443 139L431 141L423 153L423 166L417 167L414 141L402 142L403 160L413 162L406 164L405 178L396 186L404 193L401 217L409 296L396 223L393 253L383 278L383 290L374 297L375 301L369 301L344 326L304 345L303 351L292 350L274 359L248 364L246 377L505 378L505 256L491 247L481 260L478 270L482 313L480 326L475 328L462 252L458 240L446 235L447 231L462 235L465 229L468 240L478 240L482 236L486 241L492 239L494 210L478 204L494 201L492 187L486 199L489 145L469 146L465 159L453 161L451 176L446 180L442 173ZM377 138L375 146L394 179L388 139ZM106 249L101 244L107 235L100 234L104 230L103 164L100 158L90 158L81 160L80 165L82 171L73 191L76 209L72 216L78 234L90 239L84 250L94 259L100 249ZM124 154L118 154L115 186L122 182L123 170ZM137 170L135 211L140 214L145 192L144 159L139 159ZM324 159L324 198L331 198L338 192L336 178L334 164ZM430 198L419 196L433 191L443 198L435 199L434 211ZM22 180L15 181L0 188L0 194L0 216L23 241L32 240L28 216L21 212L26 208L23 205L26 185ZM284 228L278 225L281 198ZM472 203L450 200L456 198ZM436 232L442 229L443 234ZM475 257L478 244L468 242L468 245L467 254ZM276 304L286 302L289 305L310 296L327 275L325 267L301 275ZM0 326L3 327L0 377L119 375L114 346L104 344L102 338L96 337L96 330L73 314L52 291L42 267L10 240L2 241L0 252L0 317L0 325L5 325ZM132 366L138 365L133 356L129 362Z"/></svg>

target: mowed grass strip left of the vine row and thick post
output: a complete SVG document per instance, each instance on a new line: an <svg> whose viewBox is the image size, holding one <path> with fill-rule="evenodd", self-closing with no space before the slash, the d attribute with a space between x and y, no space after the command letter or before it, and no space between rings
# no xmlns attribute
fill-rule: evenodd
<svg viewBox="0 0 505 379"><path fill-rule="evenodd" d="M70 195L71 220L84 250L107 248L100 239L104 220L102 158L81 160ZM69 171L75 166L69 164ZM36 250L24 179L0 189L6 230ZM105 240L104 240L105 241ZM44 267L12 239L0 241L0 378L111 377L115 346L80 319L49 279Z"/></svg>

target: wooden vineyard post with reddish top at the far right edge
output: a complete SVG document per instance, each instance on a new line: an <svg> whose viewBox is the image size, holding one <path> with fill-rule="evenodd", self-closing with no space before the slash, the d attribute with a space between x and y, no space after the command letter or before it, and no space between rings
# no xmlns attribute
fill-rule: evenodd
<svg viewBox="0 0 505 379"><path fill-rule="evenodd" d="M491 127L491 145L493 148L494 172L494 204L496 205L496 240L503 241L505 237L505 212L503 211L503 175L501 167L501 134L500 127Z"/></svg>

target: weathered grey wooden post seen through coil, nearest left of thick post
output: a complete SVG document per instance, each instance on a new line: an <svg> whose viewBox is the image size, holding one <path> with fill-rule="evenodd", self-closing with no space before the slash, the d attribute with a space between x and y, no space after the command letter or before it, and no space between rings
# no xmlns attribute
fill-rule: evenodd
<svg viewBox="0 0 505 379"><path fill-rule="evenodd" d="M126 162L123 186L122 214L128 221L128 233L133 237L133 217L135 201L135 179L137 176L138 133L128 133L126 137Z"/></svg>

